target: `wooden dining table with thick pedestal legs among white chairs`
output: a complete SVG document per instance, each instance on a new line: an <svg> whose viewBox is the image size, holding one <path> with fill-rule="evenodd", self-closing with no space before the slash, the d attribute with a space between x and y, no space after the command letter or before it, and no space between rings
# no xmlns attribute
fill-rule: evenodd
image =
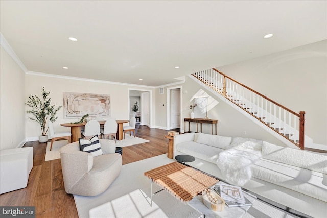
<svg viewBox="0 0 327 218"><path fill-rule="evenodd" d="M104 123L106 121L105 120L101 120L99 121L100 126L103 126ZM129 120L125 120L125 119L116 119L117 122L117 134L116 134L116 139L117 140L122 140L123 137L123 124L124 123L128 123ZM78 141L79 138L82 138L82 128L84 128L86 122L82 122L80 124L74 124L74 123L64 123L64 124L60 124L63 127L71 127L71 140L72 142Z"/></svg>

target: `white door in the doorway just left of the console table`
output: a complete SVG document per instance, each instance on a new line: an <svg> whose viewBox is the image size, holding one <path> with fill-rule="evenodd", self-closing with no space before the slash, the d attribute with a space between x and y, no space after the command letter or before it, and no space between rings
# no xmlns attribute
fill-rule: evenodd
<svg viewBox="0 0 327 218"><path fill-rule="evenodd" d="M180 128L180 89L171 90L171 127L172 129Z"/></svg>

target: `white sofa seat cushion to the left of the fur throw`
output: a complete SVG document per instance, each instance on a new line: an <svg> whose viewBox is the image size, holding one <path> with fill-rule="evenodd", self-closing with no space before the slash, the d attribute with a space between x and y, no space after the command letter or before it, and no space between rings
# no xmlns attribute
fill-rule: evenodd
<svg viewBox="0 0 327 218"><path fill-rule="evenodd" d="M219 152L223 151L223 149L207 146L206 144L201 144L194 141L181 142L176 145L176 149L184 154L188 154L212 163L216 163Z"/></svg>

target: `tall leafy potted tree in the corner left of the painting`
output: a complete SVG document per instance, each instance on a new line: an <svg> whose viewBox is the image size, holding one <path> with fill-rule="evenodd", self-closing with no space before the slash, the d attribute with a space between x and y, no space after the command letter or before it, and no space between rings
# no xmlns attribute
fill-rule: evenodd
<svg viewBox="0 0 327 218"><path fill-rule="evenodd" d="M46 92L44 87L42 89L43 92L41 98L36 95L29 96L29 100L25 103L32 108L32 110L26 111L27 113L31 113L34 116L29 117L29 119L34 120L41 127L42 135L39 136L40 143L48 141L48 135L46 135L49 129L49 126L46 128L46 122L48 121L48 118L50 117L50 122L54 122L58 118L56 117L56 113L62 107L59 106L58 108L55 108L55 105L51 105L51 99L48 98L50 92Z"/></svg>

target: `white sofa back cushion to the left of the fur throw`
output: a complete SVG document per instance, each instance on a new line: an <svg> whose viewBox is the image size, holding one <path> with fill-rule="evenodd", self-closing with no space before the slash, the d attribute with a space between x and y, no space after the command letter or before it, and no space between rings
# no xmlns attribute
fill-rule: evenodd
<svg viewBox="0 0 327 218"><path fill-rule="evenodd" d="M220 136L220 135L210 135L205 133L199 133L196 140L197 143L207 144L209 146L225 149L231 142L231 137Z"/></svg>

